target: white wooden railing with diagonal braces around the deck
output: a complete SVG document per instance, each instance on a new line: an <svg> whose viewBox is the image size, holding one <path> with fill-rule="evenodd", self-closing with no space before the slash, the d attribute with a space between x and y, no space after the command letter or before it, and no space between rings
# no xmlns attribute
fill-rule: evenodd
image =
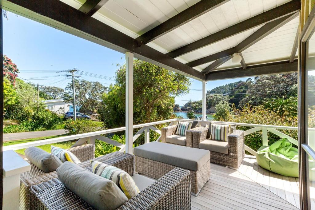
<svg viewBox="0 0 315 210"><path fill-rule="evenodd" d="M135 142L136 139L139 138L141 133L145 133L145 141L144 143L149 143L150 142L150 132L149 130L153 130L156 133L160 134L161 137L161 131L154 127L154 125L158 124L163 124L163 123L169 123L169 125L172 125L174 122L177 120L181 119L169 119L169 120L163 120L163 121L157 121L157 122L149 122L149 123L144 123L144 124L139 124L139 125L134 125L133 128L140 128L140 130L133 136L133 142ZM186 120L186 119L185 119ZM194 121L194 120L187 120L187 121ZM199 122L200 126L206 126L209 125L209 121L202 121L202 120L197 120ZM216 121L211 121L211 122L216 122ZM232 124L236 124L237 126L246 126L246 127L253 127L250 128L249 130L246 130L244 132L244 135L249 135L251 133L257 132L262 130L262 145L268 145L268 131L271 133L274 133L278 135L281 138L287 138L292 144L298 145L298 142L296 139L293 139L289 137L288 135L278 131L280 130L297 130L297 127L286 127L286 126L273 126L273 125L260 125L260 124L248 124L248 123L235 123L235 122L228 122ZM88 142L90 144L95 144L95 140L98 139L100 141L106 142L108 144L117 146L120 148L119 151L125 151L125 145L114 141L112 139L109 139L105 136L102 136L103 134L108 134L108 133L115 133L115 132L120 132L124 131L126 128L121 127L121 128L112 128L112 129L107 129L107 130L102 130L102 131L95 131L95 132L90 132L90 133L83 133L83 134L76 134L76 135L70 135L70 136L63 136L63 137L58 137L58 138L53 138L53 139L44 139L44 140L38 140L34 142L28 142L28 143L23 143L23 144L16 144L16 145L9 145L9 146L4 146L3 150L19 150L19 149L24 149L28 148L31 146L40 146L40 145L47 145L47 144L53 144L53 143L58 143L58 142L64 142L64 141L70 141L70 140L77 140L72 147L83 145L85 142ZM157 141L160 139L160 137L157 139ZM245 145L245 150L251 153L252 155L256 155L256 151Z"/></svg>

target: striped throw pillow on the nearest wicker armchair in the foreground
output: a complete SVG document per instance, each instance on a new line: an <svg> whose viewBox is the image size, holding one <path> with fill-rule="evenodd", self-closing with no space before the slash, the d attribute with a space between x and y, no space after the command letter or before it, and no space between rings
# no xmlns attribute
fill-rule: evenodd
<svg viewBox="0 0 315 210"><path fill-rule="evenodd" d="M140 192L135 181L124 170L93 160L91 160L91 167L93 173L116 183L128 199Z"/></svg>

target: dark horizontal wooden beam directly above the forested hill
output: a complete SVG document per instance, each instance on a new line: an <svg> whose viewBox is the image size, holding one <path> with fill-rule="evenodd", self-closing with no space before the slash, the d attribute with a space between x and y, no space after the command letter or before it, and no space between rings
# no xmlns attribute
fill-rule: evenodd
<svg viewBox="0 0 315 210"><path fill-rule="evenodd" d="M211 71L206 74L206 80L220 80L220 79L232 79L239 77L255 77L267 74L284 74L297 71L297 60L290 63L287 61L280 61L268 64L247 66L246 69L234 68L226 70Z"/></svg>

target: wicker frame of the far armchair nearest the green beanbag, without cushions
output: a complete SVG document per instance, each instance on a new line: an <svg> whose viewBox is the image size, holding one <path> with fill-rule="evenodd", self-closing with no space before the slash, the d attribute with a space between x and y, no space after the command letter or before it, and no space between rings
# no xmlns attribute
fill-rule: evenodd
<svg viewBox="0 0 315 210"><path fill-rule="evenodd" d="M199 148L200 143L207 138L209 128L202 128L193 132L193 144L194 148ZM244 150L244 131L235 130L233 133L228 135L227 142L227 154L223 154L216 151L211 151L210 161L212 163L238 168L245 155Z"/></svg>

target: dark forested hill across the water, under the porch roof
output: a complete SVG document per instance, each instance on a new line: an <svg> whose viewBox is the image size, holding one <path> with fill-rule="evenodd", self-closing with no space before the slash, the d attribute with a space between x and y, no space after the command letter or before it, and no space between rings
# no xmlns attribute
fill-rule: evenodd
<svg viewBox="0 0 315 210"><path fill-rule="evenodd" d="M314 76L309 80L315 81ZM268 98L297 96L297 73L258 76L246 81L238 81L222 85L207 92L207 109L219 101L228 101L241 108L245 104L259 105L260 101ZM200 111L200 101L189 101L186 110ZM186 111L185 110L185 111Z"/></svg>

